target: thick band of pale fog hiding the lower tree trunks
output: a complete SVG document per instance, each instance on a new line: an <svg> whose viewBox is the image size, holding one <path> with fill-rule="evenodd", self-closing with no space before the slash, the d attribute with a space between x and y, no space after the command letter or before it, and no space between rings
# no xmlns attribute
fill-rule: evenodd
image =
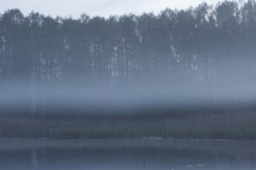
<svg viewBox="0 0 256 170"><path fill-rule="evenodd" d="M155 73L150 81L127 79L116 80L115 83L103 80L95 84L84 80L50 84L28 83L24 80L5 81L0 87L0 107L16 111L29 108L29 114L39 110L68 110L70 114L74 110L80 110L81 113L119 111L122 114L127 110L150 108L243 107L254 104L254 74L238 68L232 68L232 73L236 76L227 76L224 80L199 81L189 76L171 80L166 76L165 80L157 80L155 77L161 76L160 73ZM215 76L221 77L224 74L219 70Z"/></svg>

